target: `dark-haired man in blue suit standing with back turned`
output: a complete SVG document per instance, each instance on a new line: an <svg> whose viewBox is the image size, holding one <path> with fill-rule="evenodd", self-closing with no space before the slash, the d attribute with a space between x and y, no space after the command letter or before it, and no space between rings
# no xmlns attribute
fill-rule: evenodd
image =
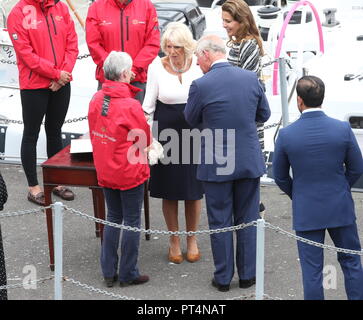
<svg viewBox="0 0 363 320"><path fill-rule="evenodd" d="M325 231L338 248L361 250L351 187L363 173L362 154L348 122L321 110L325 86L305 76L297 85L299 120L281 129L275 146L275 182L292 199L297 236L324 243ZM293 177L289 171L292 169ZM298 241L304 297L324 299L322 248ZM338 253L348 299L363 299L359 255Z"/></svg>

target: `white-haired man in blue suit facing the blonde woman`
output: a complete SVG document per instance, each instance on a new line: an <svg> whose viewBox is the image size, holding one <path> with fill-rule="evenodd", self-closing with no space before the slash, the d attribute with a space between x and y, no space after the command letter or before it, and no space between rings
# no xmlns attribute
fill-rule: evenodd
<svg viewBox="0 0 363 320"><path fill-rule="evenodd" d="M193 81L185 118L202 129L201 162L210 229L258 219L260 177L265 172L256 122L266 122L270 108L255 73L235 68L225 59L225 44L217 36L197 45L204 76ZM211 235L215 265L212 285L228 291L234 275L233 233ZM237 231L236 265L241 288L255 283L256 228Z"/></svg>

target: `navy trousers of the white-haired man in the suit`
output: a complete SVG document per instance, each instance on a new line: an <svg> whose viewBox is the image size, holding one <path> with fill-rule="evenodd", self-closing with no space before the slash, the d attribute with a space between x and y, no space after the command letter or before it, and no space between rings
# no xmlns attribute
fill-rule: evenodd
<svg viewBox="0 0 363 320"><path fill-rule="evenodd" d="M260 179L228 182L203 181L210 229L231 227L259 218ZM256 276L256 227L237 231L236 266L239 279ZM230 284L234 275L233 233L211 235L215 266L214 279L221 285Z"/></svg>

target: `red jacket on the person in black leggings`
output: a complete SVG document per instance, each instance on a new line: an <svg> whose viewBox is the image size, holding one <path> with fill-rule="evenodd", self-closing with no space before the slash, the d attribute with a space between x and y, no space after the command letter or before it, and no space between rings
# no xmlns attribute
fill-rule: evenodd
<svg viewBox="0 0 363 320"><path fill-rule="evenodd" d="M62 70L72 72L78 40L68 7L59 0L20 0L8 16L20 89L48 88Z"/></svg>

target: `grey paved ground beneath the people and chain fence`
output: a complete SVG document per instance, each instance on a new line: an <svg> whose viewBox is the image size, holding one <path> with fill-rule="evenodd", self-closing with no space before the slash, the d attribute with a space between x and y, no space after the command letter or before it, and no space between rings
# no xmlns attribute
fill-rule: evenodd
<svg viewBox="0 0 363 320"><path fill-rule="evenodd" d="M9 201L4 212L14 212L36 208L26 200L25 176L19 165L0 165L7 182ZM39 176L41 171L39 168ZM91 192L86 188L75 188L76 199L67 202L71 208L93 215ZM275 186L262 188L262 199L266 204L266 220L275 226L291 231L291 209L288 198ZM362 213L363 194L355 193L358 226L363 238ZM160 201L150 198L151 228L165 230ZM181 207L183 213L183 207ZM181 226L184 226L183 214ZM9 284L21 283L36 270L37 278L52 275L50 271L45 217L42 213L22 217L2 218L1 227L6 254ZM200 230L208 229L205 207L203 206ZM183 228L184 230L184 228ZM194 264L180 265L167 260L168 239L163 235L153 235L146 241L141 238L139 268L150 276L149 283L128 288L114 287L109 292L142 300L226 300L253 293L254 287L238 288L235 276L231 290L227 293L216 291L210 284L213 275L213 261L209 236L199 236L202 259ZM328 243L331 244L330 239ZM185 248L185 239L183 239ZM64 275L75 280L105 290L99 267L100 240L95 237L94 223L71 213L64 217ZM344 283L336 254L326 251L326 265L336 267L336 289L326 290L326 299L346 299ZM329 269L331 270L331 269ZM331 273L329 273L331 276ZM9 290L11 300L51 300L54 298L53 281L46 280L36 288L16 288ZM266 230L265 293L284 300L302 299L302 284L296 243L286 236ZM63 297L69 300L113 299L99 293L64 283ZM140 302L141 303L141 302Z"/></svg>

